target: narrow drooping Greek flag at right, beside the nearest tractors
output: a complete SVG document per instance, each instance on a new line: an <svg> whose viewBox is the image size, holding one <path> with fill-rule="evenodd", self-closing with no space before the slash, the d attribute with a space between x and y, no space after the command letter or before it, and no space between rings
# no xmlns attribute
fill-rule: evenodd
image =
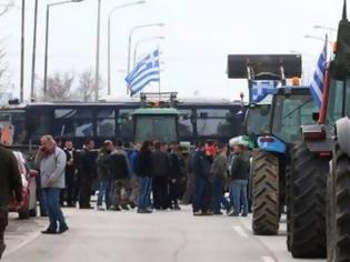
<svg viewBox="0 0 350 262"><path fill-rule="evenodd" d="M327 44L328 40L326 38L326 43L322 53L320 54L319 60L317 62L317 68L310 87L311 95L319 108L321 108L322 93L324 87L324 75L327 69Z"/></svg>

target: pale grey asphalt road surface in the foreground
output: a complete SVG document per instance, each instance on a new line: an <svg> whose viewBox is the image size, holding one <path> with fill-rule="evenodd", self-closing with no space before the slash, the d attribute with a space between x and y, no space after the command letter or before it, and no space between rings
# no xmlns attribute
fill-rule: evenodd
<svg viewBox="0 0 350 262"><path fill-rule="evenodd" d="M293 260L287 252L284 224L278 236L254 236L250 218L193 218L189 208L152 214L72 209L64 213L70 231L62 235L41 235L44 219L11 219L3 261L308 261Z"/></svg>

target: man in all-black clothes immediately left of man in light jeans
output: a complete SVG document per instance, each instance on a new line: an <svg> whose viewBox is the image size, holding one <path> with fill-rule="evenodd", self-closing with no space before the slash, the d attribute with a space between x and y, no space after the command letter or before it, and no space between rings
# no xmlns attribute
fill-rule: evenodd
<svg viewBox="0 0 350 262"><path fill-rule="evenodd" d="M92 181L97 177L97 164L93 149L94 141L92 139L87 139L84 148L81 150L78 172L80 209L92 209L90 205Z"/></svg>

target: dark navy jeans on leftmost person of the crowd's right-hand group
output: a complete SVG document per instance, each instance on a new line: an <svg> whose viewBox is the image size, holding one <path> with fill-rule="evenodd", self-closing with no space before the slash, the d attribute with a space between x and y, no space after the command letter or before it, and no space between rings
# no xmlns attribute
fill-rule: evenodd
<svg viewBox="0 0 350 262"><path fill-rule="evenodd" d="M208 194L209 194L209 181L202 178L194 179L194 195L193 195L193 212L206 212L209 209Z"/></svg>

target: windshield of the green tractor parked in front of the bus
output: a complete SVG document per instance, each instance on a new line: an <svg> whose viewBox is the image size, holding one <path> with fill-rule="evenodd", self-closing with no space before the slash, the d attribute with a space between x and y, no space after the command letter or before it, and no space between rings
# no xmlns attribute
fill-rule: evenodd
<svg viewBox="0 0 350 262"><path fill-rule="evenodd" d="M136 142L178 140L176 115L136 115Z"/></svg>

